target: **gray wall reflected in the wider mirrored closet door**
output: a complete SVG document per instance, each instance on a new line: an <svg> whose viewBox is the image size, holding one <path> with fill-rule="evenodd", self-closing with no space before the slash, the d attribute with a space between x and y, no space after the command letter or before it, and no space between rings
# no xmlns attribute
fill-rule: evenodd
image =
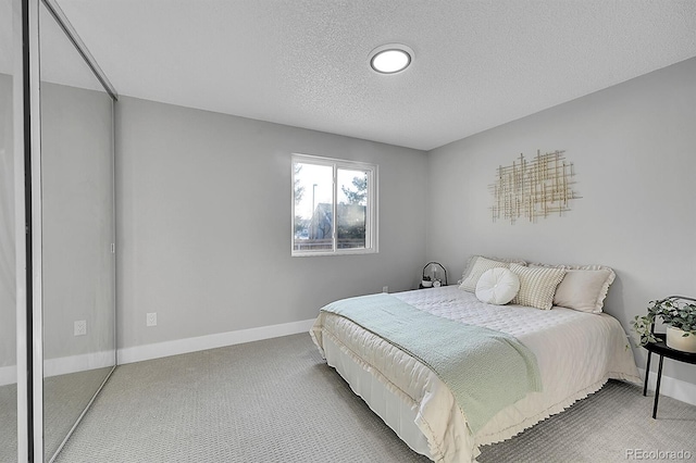
<svg viewBox="0 0 696 463"><path fill-rule="evenodd" d="M113 351L113 115L105 92L41 83L41 201L44 358ZM87 335L74 336L82 320Z"/></svg>

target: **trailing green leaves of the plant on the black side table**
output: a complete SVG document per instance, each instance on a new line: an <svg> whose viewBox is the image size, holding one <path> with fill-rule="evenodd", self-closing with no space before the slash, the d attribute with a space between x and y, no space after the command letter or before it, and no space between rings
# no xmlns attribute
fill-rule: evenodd
<svg viewBox="0 0 696 463"><path fill-rule="evenodd" d="M631 322L633 330L639 337L641 346L648 342L657 342L651 326L659 317L662 323L684 331L684 337L689 334L696 336L696 303L688 302L676 296L671 296L660 301L650 301L647 315L636 315Z"/></svg>

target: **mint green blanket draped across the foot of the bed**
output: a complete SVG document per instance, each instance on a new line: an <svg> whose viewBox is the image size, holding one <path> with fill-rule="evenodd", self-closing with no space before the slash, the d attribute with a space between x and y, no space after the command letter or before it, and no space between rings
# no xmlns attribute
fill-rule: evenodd
<svg viewBox="0 0 696 463"><path fill-rule="evenodd" d="M357 323L430 366L474 434L504 408L542 390L534 353L505 333L443 318L382 293L332 302L322 311Z"/></svg>

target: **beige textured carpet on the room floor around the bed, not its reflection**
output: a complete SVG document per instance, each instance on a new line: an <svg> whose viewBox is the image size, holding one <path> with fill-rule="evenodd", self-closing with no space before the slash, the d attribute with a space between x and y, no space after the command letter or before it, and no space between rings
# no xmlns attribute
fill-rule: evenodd
<svg viewBox="0 0 696 463"><path fill-rule="evenodd" d="M696 406L610 381L481 462L625 462L691 451ZM58 462L425 462L326 366L308 335L116 368Z"/></svg>

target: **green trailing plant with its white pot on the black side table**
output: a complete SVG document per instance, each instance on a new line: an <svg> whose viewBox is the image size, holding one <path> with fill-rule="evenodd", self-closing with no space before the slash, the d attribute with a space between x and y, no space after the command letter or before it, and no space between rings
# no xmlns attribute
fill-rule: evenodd
<svg viewBox="0 0 696 463"><path fill-rule="evenodd" d="M647 315L636 315L631 322L641 346L657 342L652 326L657 318L667 325L667 346L684 352L696 352L696 299L681 296L650 301Z"/></svg>

